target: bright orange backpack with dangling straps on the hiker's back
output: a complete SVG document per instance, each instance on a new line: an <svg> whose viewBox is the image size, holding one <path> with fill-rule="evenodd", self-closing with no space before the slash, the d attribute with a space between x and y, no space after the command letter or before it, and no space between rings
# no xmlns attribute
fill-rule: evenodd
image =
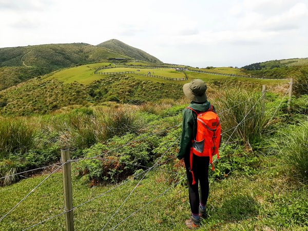
<svg viewBox="0 0 308 231"><path fill-rule="evenodd" d="M213 156L217 155L219 159L218 148L221 143L221 127L218 115L213 111L210 105L207 111L197 112L191 107L186 107L197 114L197 134L192 140L190 148L190 172L192 174L192 184L195 184L194 172L192 172L192 155L199 157L209 157L209 163L213 165Z"/></svg>

